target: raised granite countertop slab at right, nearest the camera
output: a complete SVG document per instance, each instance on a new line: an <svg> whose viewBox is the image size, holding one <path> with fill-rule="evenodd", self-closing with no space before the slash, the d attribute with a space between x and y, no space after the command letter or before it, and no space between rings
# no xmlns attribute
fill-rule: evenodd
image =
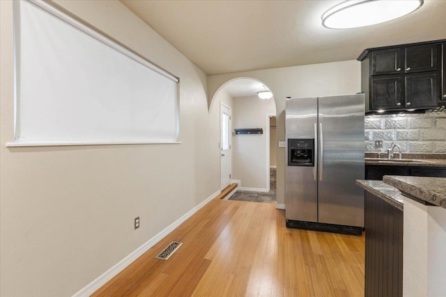
<svg viewBox="0 0 446 297"><path fill-rule="evenodd" d="M403 194L446 209L445 177L402 177L385 175L383 182L394 186Z"/></svg>

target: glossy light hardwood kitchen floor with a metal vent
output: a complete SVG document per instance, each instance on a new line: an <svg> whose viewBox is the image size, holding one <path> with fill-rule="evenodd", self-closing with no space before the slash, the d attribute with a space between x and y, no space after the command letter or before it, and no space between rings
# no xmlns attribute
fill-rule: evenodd
<svg viewBox="0 0 446 297"><path fill-rule="evenodd" d="M287 229L284 216L215 199L93 296L364 296L364 236ZM154 259L171 241L183 246Z"/></svg>

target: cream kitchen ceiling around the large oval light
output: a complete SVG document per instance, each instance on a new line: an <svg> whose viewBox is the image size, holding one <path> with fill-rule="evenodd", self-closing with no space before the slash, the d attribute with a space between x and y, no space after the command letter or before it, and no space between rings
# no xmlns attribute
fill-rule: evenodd
<svg viewBox="0 0 446 297"><path fill-rule="evenodd" d="M121 1L206 74L354 60L369 47L446 39L446 0L344 30L321 25L339 0Z"/></svg>

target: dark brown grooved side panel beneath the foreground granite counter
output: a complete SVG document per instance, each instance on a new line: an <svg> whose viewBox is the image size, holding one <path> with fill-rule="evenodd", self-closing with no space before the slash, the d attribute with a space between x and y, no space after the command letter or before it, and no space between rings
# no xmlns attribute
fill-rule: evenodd
<svg viewBox="0 0 446 297"><path fill-rule="evenodd" d="M403 211L367 191L364 296L403 296Z"/></svg>

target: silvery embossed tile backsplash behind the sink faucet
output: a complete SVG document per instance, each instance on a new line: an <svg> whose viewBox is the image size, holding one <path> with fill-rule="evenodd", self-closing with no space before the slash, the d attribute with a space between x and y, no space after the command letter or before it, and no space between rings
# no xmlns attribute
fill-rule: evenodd
<svg viewBox="0 0 446 297"><path fill-rule="evenodd" d="M366 115L364 125L366 152L386 152L394 142L403 152L446 153L446 113Z"/></svg>

